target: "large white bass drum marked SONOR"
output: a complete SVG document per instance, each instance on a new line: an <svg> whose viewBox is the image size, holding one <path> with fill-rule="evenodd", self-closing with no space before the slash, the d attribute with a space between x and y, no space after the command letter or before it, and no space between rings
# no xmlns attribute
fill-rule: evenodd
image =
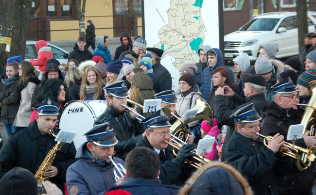
<svg viewBox="0 0 316 195"><path fill-rule="evenodd" d="M92 129L94 120L105 111L106 105L105 100L73 100L66 104L60 114L58 128L77 132L73 139L76 149L87 142L84 134Z"/></svg>

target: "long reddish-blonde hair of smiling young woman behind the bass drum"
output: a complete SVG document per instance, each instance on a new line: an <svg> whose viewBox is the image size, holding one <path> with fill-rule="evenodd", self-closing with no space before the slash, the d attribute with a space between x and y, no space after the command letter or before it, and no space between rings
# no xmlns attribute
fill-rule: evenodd
<svg viewBox="0 0 316 195"><path fill-rule="evenodd" d="M99 96L104 96L104 90L102 88L102 84L104 84L104 81L101 78L101 75L94 67L87 67L84 72L84 76L81 81L81 93L80 93L80 99L86 100L87 99L87 92L86 92L86 84L88 84L88 71L94 71L95 75L97 76L97 79L94 84L97 85L97 91L94 93L94 96L92 97L93 100L96 100Z"/></svg>

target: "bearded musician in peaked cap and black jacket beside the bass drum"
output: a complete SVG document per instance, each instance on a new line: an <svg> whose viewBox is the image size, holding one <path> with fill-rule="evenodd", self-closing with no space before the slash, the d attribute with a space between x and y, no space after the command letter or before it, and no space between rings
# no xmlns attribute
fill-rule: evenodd
<svg viewBox="0 0 316 195"><path fill-rule="evenodd" d="M116 157L125 159L127 153L135 148L136 143L145 135L136 114L125 112L128 90L124 81L113 82L105 88L107 107L95 121L94 125L109 122L119 143L115 145Z"/></svg>

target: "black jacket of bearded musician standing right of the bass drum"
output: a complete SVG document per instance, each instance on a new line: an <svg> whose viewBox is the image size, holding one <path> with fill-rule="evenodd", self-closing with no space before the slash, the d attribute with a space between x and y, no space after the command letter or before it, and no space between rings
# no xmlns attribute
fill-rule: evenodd
<svg viewBox="0 0 316 195"><path fill-rule="evenodd" d="M132 120L126 112L118 115L110 106L107 106L105 112L94 121L94 125L105 122L110 123L110 127L113 128L119 140L119 143L114 147L116 157L124 160L127 153L135 148L144 130L137 119Z"/></svg>

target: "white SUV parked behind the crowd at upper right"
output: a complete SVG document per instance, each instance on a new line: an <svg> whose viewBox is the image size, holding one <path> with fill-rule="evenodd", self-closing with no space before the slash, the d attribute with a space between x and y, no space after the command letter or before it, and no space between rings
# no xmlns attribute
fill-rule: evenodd
<svg viewBox="0 0 316 195"><path fill-rule="evenodd" d="M277 58L298 55L298 22L296 12L271 12L254 17L239 31L224 36L225 60L247 53L250 61L256 61L263 43L279 45ZM308 12L309 32L315 31L315 24L316 12Z"/></svg>

